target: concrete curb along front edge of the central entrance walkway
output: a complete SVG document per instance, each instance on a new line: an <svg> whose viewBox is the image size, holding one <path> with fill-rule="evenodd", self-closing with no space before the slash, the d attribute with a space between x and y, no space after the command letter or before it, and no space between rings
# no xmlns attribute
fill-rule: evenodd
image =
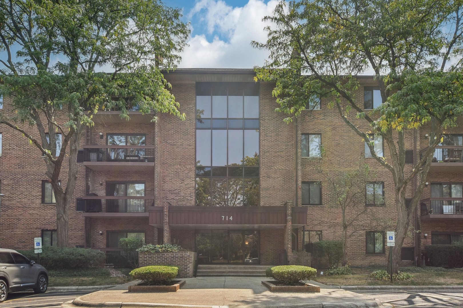
<svg viewBox="0 0 463 308"><path fill-rule="evenodd" d="M67 303L66 303L67 304ZM215 305L182 305L182 304L163 304L163 303L148 303L148 302L88 302L77 297L72 301L72 306L66 305L64 307L88 307L88 308L124 308L124 307L152 307L152 308L215 308ZM294 304L275 304L275 305L229 305L229 308L369 308L369 307L383 307L382 302L378 300L364 301L360 303L321 303L321 302L306 302L306 303L294 303Z"/></svg>

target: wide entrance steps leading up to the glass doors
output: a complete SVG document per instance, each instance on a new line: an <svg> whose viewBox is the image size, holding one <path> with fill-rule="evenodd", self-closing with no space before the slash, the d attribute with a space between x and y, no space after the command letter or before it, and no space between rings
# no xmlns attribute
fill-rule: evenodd
<svg viewBox="0 0 463 308"><path fill-rule="evenodd" d="M196 277L238 276L265 277L265 270L271 265L198 265Z"/></svg>

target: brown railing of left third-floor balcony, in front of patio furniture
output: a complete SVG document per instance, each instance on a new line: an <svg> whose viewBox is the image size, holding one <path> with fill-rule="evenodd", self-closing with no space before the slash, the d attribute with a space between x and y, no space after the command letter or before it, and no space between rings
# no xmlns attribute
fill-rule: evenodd
<svg viewBox="0 0 463 308"><path fill-rule="evenodd" d="M84 145L84 162L154 162L154 146Z"/></svg>

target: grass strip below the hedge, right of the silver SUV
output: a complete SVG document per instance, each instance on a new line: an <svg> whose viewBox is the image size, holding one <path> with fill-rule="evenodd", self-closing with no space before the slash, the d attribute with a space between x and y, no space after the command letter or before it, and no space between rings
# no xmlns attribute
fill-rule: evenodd
<svg viewBox="0 0 463 308"><path fill-rule="evenodd" d="M50 270L49 287L67 286L88 286L88 285L107 285L125 284L133 279L128 275L129 269L118 269L123 277L111 277L111 272L107 268L90 270Z"/></svg>

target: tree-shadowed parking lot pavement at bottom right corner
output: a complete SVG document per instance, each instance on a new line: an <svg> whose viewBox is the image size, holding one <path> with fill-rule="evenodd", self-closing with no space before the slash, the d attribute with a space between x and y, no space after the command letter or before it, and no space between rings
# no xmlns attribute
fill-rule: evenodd
<svg viewBox="0 0 463 308"><path fill-rule="evenodd" d="M355 291L393 307L463 307L461 291Z"/></svg>

